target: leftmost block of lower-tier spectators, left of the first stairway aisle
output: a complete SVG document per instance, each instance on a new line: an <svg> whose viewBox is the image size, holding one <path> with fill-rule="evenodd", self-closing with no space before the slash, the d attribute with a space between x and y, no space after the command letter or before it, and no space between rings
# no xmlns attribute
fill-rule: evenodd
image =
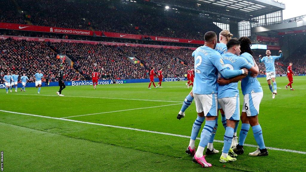
<svg viewBox="0 0 306 172"><path fill-rule="evenodd" d="M49 76L51 81L57 81L59 65L55 58L56 53L43 42L2 39L0 40L0 72L1 83L6 72L18 72L19 75L26 73L32 82L32 77L41 70L44 77ZM72 67L65 65L65 80L82 80L83 76L78 74Z"/></svg>

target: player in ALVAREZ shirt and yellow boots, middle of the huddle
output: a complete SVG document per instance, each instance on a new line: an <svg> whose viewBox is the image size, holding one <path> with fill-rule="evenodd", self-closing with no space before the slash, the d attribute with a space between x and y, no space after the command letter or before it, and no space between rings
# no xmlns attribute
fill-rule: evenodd
<svg viewBox="0 0 306 172"><path fill-rule="evenodd" d="M258 74L258 68L256 69L244 58L239 57L239 44L240 42L237 39L230 39L230 41L226 44L227 53L222 54L222 59L225 63L225 66L232 70L247 68L252 73ZM234 157L236 157L237 154L235 154L234 152L229 152L229 150L234 136L234 128L237 122L239 122L240 105L237 82L218 86L218 103L220 104L221 109L223 109L225 113L227 126L224 134L224 146L222 150L222 155L219 161L221 163L236 161L236 158Z"/></svg>

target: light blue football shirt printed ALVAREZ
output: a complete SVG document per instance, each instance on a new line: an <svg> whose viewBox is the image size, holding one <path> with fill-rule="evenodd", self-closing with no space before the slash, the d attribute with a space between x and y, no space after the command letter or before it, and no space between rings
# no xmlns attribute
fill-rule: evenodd
<svg viewBox="0 0 306 172"><path fill-rule="evenodd" d="M252 65L248 61L233 53L227 52L225 54L222 54L222 60L225 66L230 70L239 70L241 68L247 68L247 69L252 68ZM221 75L221 77L223 76ZM218 86L218 99L224 97L235 97L235 96L239 97L238 82L233 82L230 84Z"/></svg>

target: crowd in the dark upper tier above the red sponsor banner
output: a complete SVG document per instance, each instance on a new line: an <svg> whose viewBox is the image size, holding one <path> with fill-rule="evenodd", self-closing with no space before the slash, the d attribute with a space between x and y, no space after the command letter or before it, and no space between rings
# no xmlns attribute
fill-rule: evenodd
<svg viewBox="0 0 306 172"><path fill-rule="evenodd" d="M122 1L16 0L17 5L11 0L2 2L11 4L2 13L2 22L29 21L42 26L201 40L207 31L221 31L199 15L152 9L138 3L129 6ZM22 13L17 9L22 9Z"/></svg>

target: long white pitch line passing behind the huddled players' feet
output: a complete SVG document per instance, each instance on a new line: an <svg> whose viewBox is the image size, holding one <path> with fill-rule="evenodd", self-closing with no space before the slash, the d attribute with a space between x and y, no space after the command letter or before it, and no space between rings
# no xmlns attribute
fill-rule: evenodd
<svg viewBox="0 0 306 172"><path fill-rule="evenodd" d="M116 126L116 125L106 125L106 124L98 124L98 123L92 123L92 122L77 121L77 120L65 119L65 118L55 118L55 117L49 117L49 116L41 116L41 115L34 115L34 114L25 114L25 113L12 112L12 111L6 111L6 110L0 110L0 111L11 113L11 114L29 115L29 116L35 116L35 117L41 117L41 118L50 118L50 119L58 119L58 120L63 120L63 121L78 122L78 123L91 124L91 125L100 125L100 126L104 126L104 127L113 127L113 128L119 128L119 129L129 129L129 130L135 130L135 131L141 131L141 132L147 132L147 133L155 133L155 134L163 134L163 135L168 135L168 136L190 138L190 136L184 136L184 135L180 135L180 134L163 133L163 132L157 132L157 131L135 129L135 128L129 128L129 127L121 127L121 126ZM196 139L200 140L200 138L196 138ZM214 140L214 141L218 142L218 143L223 143L223 141L221 141L221 140ZM244 145L248 146L248 147L258 148L258 146L253 145L253 144L244 144ZM266 147L266 148L270 149L270 150L275 150L275 151L284 151L284 152L291 152L291 153L298 153L298 154L306 155L306 152L304 152L304 151L296 151L296 150L290 150L290 149L280 149L280 148L273 148L273 147Z"/></svg>

